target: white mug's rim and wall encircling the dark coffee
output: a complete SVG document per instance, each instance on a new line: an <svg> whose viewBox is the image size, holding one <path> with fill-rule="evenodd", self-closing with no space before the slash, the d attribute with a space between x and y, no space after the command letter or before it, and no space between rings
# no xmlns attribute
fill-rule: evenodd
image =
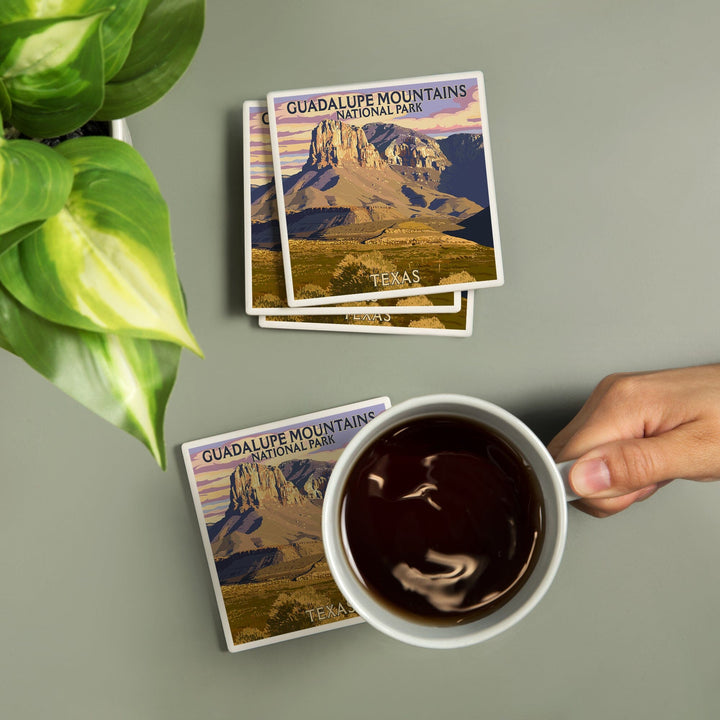
<svg viewBox="0 0 720 720"><path fill-rule="evenodd" d="M342 503L355 461L378 438L410 420L444 416L469 419L510 442L533 468L544 504L544 539L535 567L522 588L490 615L454 625L413 621L378 599L353 569L345 550ZM567 502L577 498L567 474L573 461L556 464L521 420L497 405L466 395L427 395L378 415L348 443L330 476L322 513L322 537L330 571L340 591L370 625L397 640L427 648L456 648L487 640L525 617L550 587L560 565L567 532Z"/></svg>

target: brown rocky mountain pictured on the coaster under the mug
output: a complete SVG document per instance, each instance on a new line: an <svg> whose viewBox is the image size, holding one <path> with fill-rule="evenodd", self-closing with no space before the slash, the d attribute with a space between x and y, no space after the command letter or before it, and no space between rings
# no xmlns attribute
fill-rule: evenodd
<svg viewBox="0 0 720 720"><path fill-rule="evenodd" d="M297 579L324 558L322 498L332 463L242 463L230 475L225 515L208 527L222 584Z"/></svg>

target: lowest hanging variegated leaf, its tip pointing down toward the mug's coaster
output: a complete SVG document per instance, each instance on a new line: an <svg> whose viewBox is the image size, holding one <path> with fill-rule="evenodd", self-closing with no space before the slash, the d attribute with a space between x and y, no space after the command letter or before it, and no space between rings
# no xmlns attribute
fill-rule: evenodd
<svg viewBox="0 0 720 720"><path fill-rule="evenodd" d="M0 286L0 346L138 438L165 468L163 422L180 362L177 345L56 325Z"/></svg>

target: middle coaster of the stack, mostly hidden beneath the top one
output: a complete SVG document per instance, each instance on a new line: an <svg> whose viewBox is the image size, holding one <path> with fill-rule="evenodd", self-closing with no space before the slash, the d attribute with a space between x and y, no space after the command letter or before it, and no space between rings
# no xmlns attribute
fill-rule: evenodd
<svg viewBox="0 0 720 720"><path fill-rule="evenodd" d="M245 308L248 315L295 315L289 308L283 273L272 167L267 104L243 103L244 204L245 204ZM308 285L304 297L317 289ZM433 293L372 301L385 314L454 313L460 310L460 293ZM354 307L325 305L304 308L307 315L339 315L367 312L361 302Z"/></svg>

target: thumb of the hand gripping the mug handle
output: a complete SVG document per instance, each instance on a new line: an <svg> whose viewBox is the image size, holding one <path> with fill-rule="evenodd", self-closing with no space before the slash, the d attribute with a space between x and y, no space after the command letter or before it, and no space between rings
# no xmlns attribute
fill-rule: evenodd
<svg viewBox="0 0 720 720"><path fill-rule="evenodd" d="M627 495L672 480L692 457L680 428L656 437L618 440L596 447L570 469L570 485L581 497ZM684 461L684 463L683 463Z"/></svg>

